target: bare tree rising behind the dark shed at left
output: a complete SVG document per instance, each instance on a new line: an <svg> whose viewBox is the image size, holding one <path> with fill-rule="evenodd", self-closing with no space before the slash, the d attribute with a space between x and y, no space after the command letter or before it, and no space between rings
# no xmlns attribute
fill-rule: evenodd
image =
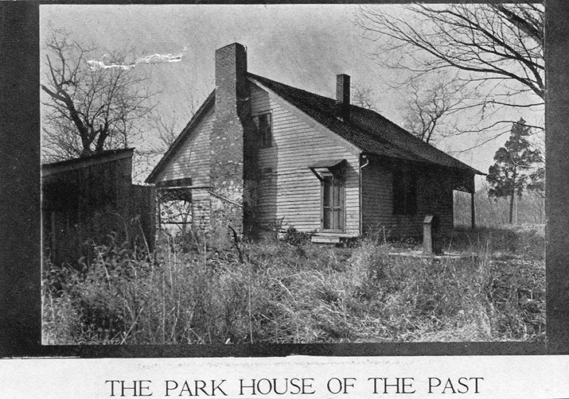
<svg viewBox="0 0 569 399"><path fill-rule="evenodd" d="M64 31L52 31L46 46L44 153L57 160L132 145L152 108L146 79L124 66L124 55L90 60L95 48Z"/></svg>

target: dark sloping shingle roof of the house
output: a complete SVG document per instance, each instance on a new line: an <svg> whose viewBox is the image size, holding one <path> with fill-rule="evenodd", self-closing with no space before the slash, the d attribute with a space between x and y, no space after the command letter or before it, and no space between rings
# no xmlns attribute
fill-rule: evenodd
<svg viewBox="0 0 569 399"><path fill-rule="evenodd" d="M274 91L277 95L299 108L299 110L302 110L302 112L317 120L317 122L323 124L332 132L339 134L364 152L408 161L436 164L453 169L462 169L474 174L483 174L449 154L440 151L440 149L423 142L375 111L351 105L349 120L343 121L336 117L336 100L334 99L316 95L252 73L249 73L248 76Z"/></svg>

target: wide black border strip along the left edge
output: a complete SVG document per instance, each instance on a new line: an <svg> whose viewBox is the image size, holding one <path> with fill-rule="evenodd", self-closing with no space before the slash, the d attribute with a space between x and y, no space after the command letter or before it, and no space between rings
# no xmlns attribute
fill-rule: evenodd
<svg viewBox="0 0 569 399"><path fill-rule="evenodd" d="M0 348L41 344L39 4L0 4Z"/></svg>

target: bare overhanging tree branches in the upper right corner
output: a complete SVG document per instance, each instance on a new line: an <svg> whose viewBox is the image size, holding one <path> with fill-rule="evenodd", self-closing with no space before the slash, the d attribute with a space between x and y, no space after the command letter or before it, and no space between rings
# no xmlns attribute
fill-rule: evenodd
<svg viewBox="0 0 569 399"><path fill-rule="evenodd" d="M543 109L543 5L415 4L403 12L385 10L362 6L356 23L364 37L378 43L378 60L408 79L400 85L445 70L457 73L457 84L479 93L469 107L491 122L457 132L511 126L515 120L496 121L502 107ZM528 127L543 132L541 126ZM492 139L506 132L501 129Z"/></svg>

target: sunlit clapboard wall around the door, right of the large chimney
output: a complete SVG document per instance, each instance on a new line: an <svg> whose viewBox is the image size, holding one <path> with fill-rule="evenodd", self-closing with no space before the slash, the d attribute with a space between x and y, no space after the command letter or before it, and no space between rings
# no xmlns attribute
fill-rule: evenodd
<svg viewBox="0 0 569 399"><path fill-rule="evenodd" d="M326 159L346 159L346 233L358 235L358 156L296 117L272 94L251 86L252 115L272 112L273 124L272 147L260 149L259 154L261 222L271 225L282 220L283 228L320 230L321 183L308 167Z"/></svg>

